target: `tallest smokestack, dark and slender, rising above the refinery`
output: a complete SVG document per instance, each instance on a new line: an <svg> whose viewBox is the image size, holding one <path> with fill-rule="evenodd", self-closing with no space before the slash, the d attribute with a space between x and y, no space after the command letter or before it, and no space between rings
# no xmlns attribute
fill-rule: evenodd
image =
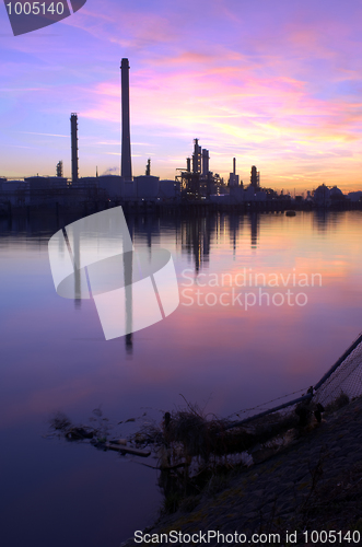
<svg viewBox="0 0 362 547"><path fill-rule="evenodd" d="M131 137L129 129L129 63L122 59L120 63L121 83L121 160L120 176L132 179Z"/></svg>

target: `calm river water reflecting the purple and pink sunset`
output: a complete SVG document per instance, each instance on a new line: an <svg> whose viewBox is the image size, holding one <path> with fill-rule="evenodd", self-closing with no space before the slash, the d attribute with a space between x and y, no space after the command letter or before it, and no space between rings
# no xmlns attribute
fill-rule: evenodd
<svg viewBox="0 0 362 547"><path fill-rule="evenodd" d="M180 290L178 310L128 347L104 340L93 301L55 292L47 242L69 219L0 221L7 547L118 546L162 501L156 472L43 438L51 412L161 421L183 394L229 416L316 383L362 329L359 211L128 220L136 248L172 252Z"/></svg>

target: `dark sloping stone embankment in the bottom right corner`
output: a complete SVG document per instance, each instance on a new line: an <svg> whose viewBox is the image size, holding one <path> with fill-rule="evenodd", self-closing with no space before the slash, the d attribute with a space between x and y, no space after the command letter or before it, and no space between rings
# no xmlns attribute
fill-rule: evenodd
<svg viewBox="0 0 362 547"><path fill-rule="evenodd" d="M271 457L215 476L202 496L186 498L176 513L162 514L143 531L149 536L131 538L122 547L167 544L167 536L161 534L171 531L186 534L180 540L173 538L176 546L205 539L218 545L218 536L194 536L194 543L187 536L208 531L219 533L219 543L220 534L236 532L238 537L227 536L227 545L241 545L245 537L250 543L254 534L264 534L254 545L362 545L357 542L362 538L362 398L326 415L322 423ZM287 531L296 536L287 536ZM312 540L303 534L306 531L318 535ZM341 534L334 542L331 533L331 540L326 542L325 535L319 537L322 531ZM348 531L350 536L346 536Z"/></svg>

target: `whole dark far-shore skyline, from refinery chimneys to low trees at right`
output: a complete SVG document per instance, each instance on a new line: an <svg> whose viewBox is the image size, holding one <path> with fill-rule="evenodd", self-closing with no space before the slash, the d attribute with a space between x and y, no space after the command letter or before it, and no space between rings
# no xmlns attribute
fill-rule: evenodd
<svg viewBox="0 0 362 547"><path fill-rule="evenodd" d="M71 114L71 179L63 177L63 165L56 166L56 176L32 176L23 181L0 178L0 212L13 207L59 205L79 207L87 205L92 208L127 203L139 207L151 207L177 203L211 203L225 206L248 206L258 209L285 209L290 205L312 207L329 207L346 205L346 196L337 188L320 186L314 196L307 194L292 197L289 194L277 194L271 188L260 186L260 174L252 166L250 184L245 187L236 174L236 159L227 182L218 173L210 171L209 150L202 149L199 140L194 141L194 153L187 158L186 167L178 168L175 179L160 181L151 175L151 160L148 160L144 175L132 176L130 109L129 109L129 62L122 59L120 65L121 80L121 156L120 176L106 174L93 177L79 177L78 154L78 115ZM295 194L295 193L294 193ZM361 202L362 193L352 193L347 202ZM355 196L358 195L358 196Z"/></svg>

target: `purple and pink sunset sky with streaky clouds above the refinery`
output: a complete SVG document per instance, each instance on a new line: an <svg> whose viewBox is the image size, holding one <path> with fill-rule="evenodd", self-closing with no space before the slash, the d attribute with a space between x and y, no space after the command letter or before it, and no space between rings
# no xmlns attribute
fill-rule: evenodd
<svg viewBox="0 0 362 547"><path fill-rule="evenodd" d="M362 2L87 0L13 36L0 5L0 176L119 173L120 59L130 63L133 175L174 178L192 140L224 177L302 193L362 189Z"/></svg>

